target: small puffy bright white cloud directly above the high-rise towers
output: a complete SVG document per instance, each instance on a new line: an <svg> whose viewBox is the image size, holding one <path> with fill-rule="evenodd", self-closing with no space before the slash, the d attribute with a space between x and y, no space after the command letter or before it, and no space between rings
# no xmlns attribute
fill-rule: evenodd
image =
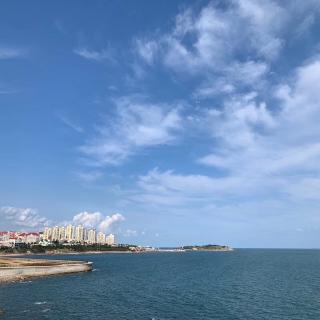
<svg viewBox="0 0 320 320"><path fill-rule="evenodd" d="M73 217L73 223L83 225L87 228L97 228L99 231L107 232L116 222L123 221L120 213L104 216L101 212L80 212Z"/></svg>

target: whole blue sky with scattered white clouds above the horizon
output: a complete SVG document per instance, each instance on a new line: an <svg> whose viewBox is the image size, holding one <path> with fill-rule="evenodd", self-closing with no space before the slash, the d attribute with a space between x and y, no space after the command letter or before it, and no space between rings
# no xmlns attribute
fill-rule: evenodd
<svg viewBox="0 0 320 320"><path fill-rule="evenodd" d="M3 1L0 229L320 248L319 1Z"/></svg>

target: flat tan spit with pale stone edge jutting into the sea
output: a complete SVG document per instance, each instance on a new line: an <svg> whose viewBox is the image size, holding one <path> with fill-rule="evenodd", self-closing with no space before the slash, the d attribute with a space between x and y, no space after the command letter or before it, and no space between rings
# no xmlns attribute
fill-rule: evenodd
<svg viewBox="0 0 320 320"><path fill-rule="evenodd" d="M0 283L92 271L87 261L0 258Z"/></svg>

